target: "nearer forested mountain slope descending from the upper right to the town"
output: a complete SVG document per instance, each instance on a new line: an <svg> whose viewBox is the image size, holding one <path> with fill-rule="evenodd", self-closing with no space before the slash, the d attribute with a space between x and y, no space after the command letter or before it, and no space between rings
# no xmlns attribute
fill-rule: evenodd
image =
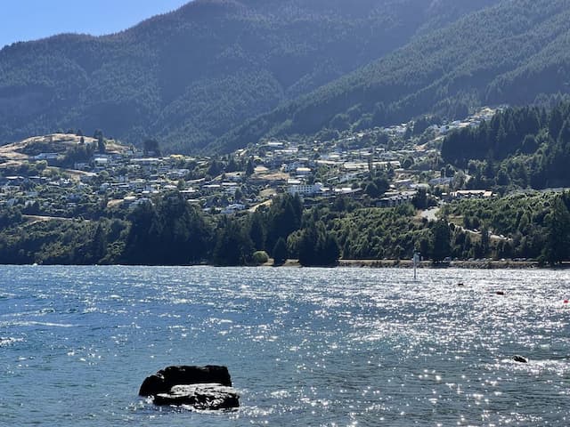
<svg viewBox="0 0 570 427"><path fill-rule="evenodd" d="M567 93L569 45L569 0L503 0L256 117L214 147L395 124L426 113L465 117L482 104Z"/></svg>

